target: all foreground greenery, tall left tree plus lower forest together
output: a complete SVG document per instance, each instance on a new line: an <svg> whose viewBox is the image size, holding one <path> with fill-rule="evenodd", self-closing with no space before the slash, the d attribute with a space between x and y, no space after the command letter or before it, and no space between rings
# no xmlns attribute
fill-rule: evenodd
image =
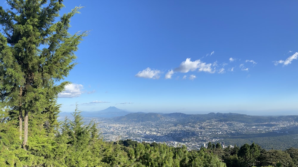
<svg viewBox="0 0 298 167"><path fill-rule="evenodd" d="M298 149L257 144L188 151L186 146L125 140L105 142L97 124L58 122L60 82L75 66L88 32L69 34L76 7L60 17L62 0L7 0L0 7L0 166L297 166ZM59 19L60 17L60 19ZM57 21L58 20L58 21ZM57 22L55 22L57 21Z"/></svg>

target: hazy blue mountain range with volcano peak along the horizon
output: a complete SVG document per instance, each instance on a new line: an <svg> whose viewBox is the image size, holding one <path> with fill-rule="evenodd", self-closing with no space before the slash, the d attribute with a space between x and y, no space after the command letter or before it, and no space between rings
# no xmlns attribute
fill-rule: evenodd
<svg viewBox="0 0 298 167"><path fill-rule="evenodd" d="M184 114L184 113L143 113L137 112L132 113L129 111L121 110L116 107L109 107L101 111L82 111L83 117L101 117L111 118L118 122L156 122L167 118L176 119L177 121L183 122L198 122L207 121L211 119L217 119L222 122L236 121L243 123L266 123L266 122L277 122L283 120L298 121L298 116L251 116L245 114L235 113L209 113L209 114ZM71 113L60 113L60 117L71 116Z"/></svg>

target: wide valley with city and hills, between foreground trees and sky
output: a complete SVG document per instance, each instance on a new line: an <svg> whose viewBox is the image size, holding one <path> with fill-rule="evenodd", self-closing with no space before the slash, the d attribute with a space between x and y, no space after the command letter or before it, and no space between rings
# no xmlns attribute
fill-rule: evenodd
<svg viewBox="0 0 298 167"><path fill-rule="evenodd" d="M113 112L109 111L109 114L113 115ZM126 115L103 118L95 113L88 116L88 112L83 112L83 121L85 124L96 122L105 141L132 139L166 143L169 146L184 144L190 150L200 149L208 142L221 142L225 146L255 142L264 149L298 147L298 116L248 116L234 113L122 114Z"/></svg>

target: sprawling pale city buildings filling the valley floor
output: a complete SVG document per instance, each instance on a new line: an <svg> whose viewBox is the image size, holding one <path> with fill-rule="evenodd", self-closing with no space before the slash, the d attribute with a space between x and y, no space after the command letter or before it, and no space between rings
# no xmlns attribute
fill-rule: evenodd
<svg viewBox="0 0 298 167"><path fill-rule="evenodd" d="M239 134L283 132L283 128L296 128L298 122L274 122L247 124L240 122L219 122L208 120L205 122L178 122L167 119L161 122L115 122L113 119L84 118L85 122L95 120L102 137L106 141L132 139L139 142L160 142L170 146L186 145L188 149L208 147L208 143L221 144L226 148L224 138ZM234 145L234 143L228 143Z"/></svg>

